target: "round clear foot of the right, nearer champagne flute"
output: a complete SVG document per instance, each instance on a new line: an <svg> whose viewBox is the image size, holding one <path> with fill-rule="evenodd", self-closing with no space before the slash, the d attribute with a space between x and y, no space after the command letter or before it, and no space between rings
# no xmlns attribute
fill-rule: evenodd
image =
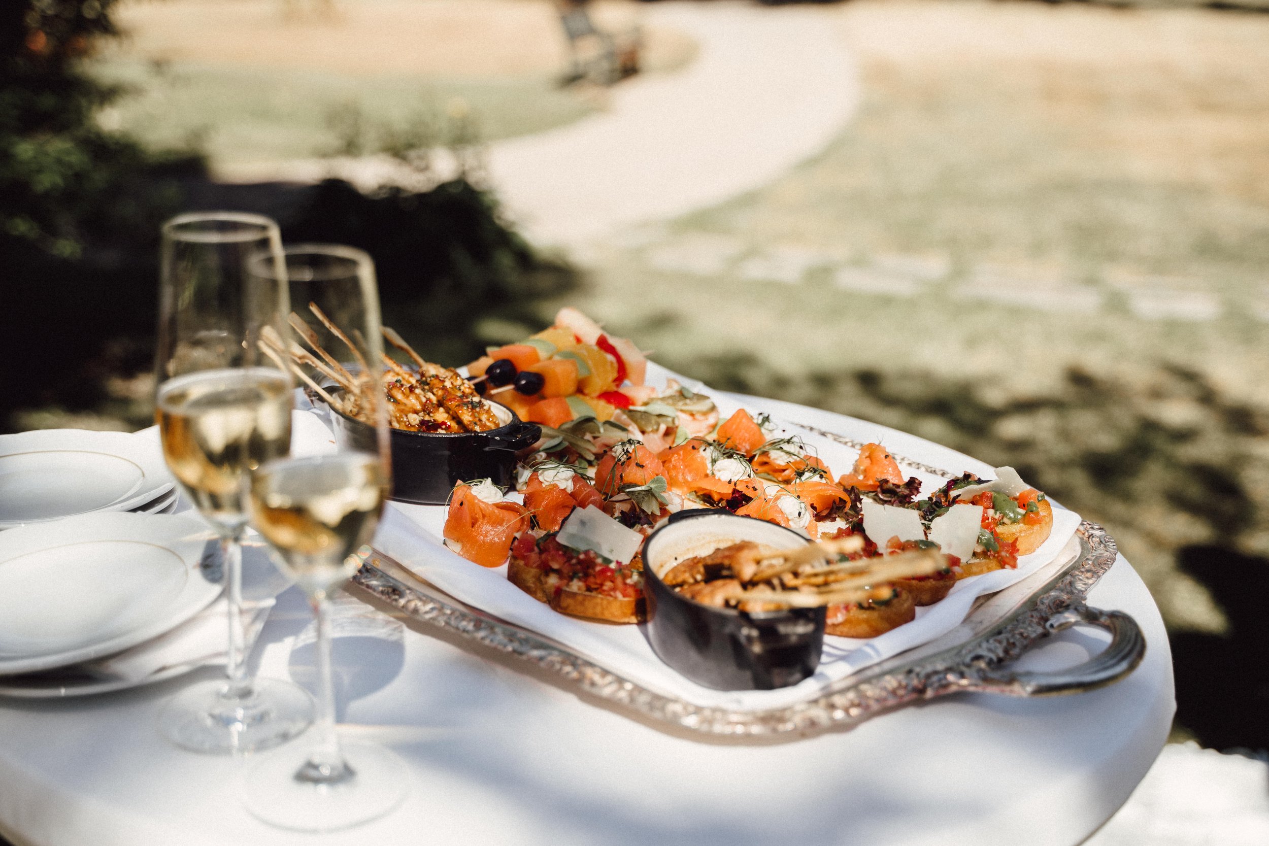
<svg viewBox="0 0 1269 846"><path fill-rule="evenodd" d="M317 832L352 828L401 804L410 779L405 761L382 746L341 746L352 774L332 784L305 779L320 778L308 748L287 747L250 762L242 776L246 809L278 828Z"/></svg>

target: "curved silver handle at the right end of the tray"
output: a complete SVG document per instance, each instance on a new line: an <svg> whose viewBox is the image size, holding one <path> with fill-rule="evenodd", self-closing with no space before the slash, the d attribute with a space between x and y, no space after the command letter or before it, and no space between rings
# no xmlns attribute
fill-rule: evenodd
<svg viewBox="0 0 1269 846"><path fill-rule="evenodd" d="M1137 668L1146 654L1146 637L1137 620L1123 611L1103 611L1100 608L1076 605L1051 616L1044 628L1055 634L1072 625L1085 623L1110 633L1107 648L1084 663L1055 672L1010 672L1008 668L981 667L981 677L968 685L971 690L1010 696L1055 696L1096 690L1119 681Z"/></svg>

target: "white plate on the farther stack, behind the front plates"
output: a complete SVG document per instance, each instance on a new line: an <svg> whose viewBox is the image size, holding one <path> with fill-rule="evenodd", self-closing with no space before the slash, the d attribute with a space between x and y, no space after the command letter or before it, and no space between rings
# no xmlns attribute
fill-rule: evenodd
<svg viewBox="0 0 1269 846"><path fill-rule="evenodd" d="M174 487L151 438L82 429L0 435L0 529L127 511Z"/></svg>

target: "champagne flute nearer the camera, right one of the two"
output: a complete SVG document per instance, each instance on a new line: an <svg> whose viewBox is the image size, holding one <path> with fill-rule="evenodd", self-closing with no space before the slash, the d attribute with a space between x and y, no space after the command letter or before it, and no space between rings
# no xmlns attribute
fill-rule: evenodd
<svg viewBox="0 0 1269 846"><path fill-rule="evenodd" d="M297 334L313 360L322 364L319 372L343 383L339 388L315 381L313 387L335 394L335 402L355 420L344 426L336 452L277 458L251 473L251 523L274 547L274 561L307 594L313 609L319 695L313 747L287 747L255 761L244 774L244 798L247 810L270 824L331 831L395 808L405 797L409 778L392 752L369 743L340 743L330 656L330 595L369 554L367 544L390 488L387 400L378 375L383 340L374 265L368 255L352 247L306 246L293 250L287 261L313 270L312 278L293 288L308 298L302 303L297 297L292 320L308 325L307 330L297 327ZM326 335L317 334L319 325ZM349 402L354 397L355 402Z"/></svg>

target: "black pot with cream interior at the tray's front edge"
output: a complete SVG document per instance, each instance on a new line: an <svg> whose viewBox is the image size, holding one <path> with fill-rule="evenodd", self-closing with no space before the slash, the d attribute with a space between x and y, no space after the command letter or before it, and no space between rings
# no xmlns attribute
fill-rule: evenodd
<svg viewBox="0 0 1269 846"><path fill-rule="evenodd" d="M740 540L792 549L807 539L726 511L683 511L643 543L647 637L661 661L714 690L796 685L820 666L826 609L747 614L687 599L661 581L674 564Z"/></svg>

